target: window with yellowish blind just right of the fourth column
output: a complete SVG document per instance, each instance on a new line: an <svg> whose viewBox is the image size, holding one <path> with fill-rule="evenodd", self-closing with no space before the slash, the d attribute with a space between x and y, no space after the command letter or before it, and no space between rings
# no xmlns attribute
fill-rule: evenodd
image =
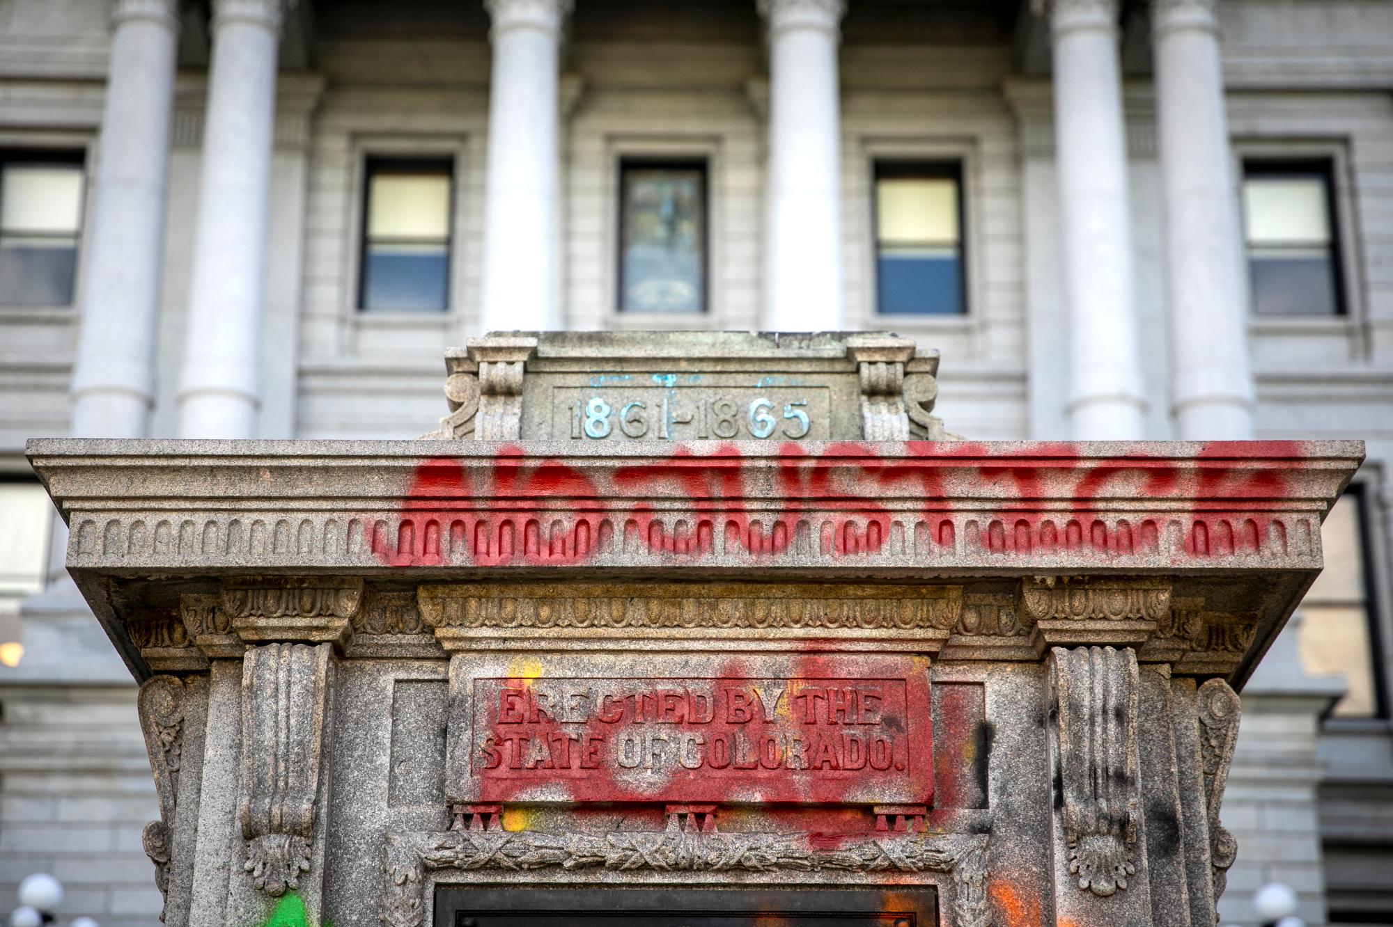
<svg viewBox="0 0 1393 927"><path fill-rule="evenodd" d="M958 164L876 161L875 263L880 315L967 312Z"/></svg>

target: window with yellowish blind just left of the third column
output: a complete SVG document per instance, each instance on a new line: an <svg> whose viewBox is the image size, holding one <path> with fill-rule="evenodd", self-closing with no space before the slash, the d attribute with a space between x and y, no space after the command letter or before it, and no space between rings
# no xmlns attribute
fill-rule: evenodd
<svg viewBox="0 0 1393 927"><path fill-rule="evenodd" d="M368 160L362 309L450 308L453 174L449 160Z"/></svg>

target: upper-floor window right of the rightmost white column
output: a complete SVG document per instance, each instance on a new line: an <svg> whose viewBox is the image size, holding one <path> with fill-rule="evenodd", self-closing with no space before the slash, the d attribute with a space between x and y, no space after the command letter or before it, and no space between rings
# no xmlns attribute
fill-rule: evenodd
<svg viewBox="0 0 1393 927"><path fill-rule="evenodd" d="M1252 310L1344 312L1329 161L1244 164L1243 217Z"/></svg>

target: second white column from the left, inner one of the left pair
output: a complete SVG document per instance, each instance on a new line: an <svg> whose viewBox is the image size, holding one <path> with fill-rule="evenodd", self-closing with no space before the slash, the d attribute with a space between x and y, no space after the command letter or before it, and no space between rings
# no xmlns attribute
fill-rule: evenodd
<svg viewBox="0 0 1393 927"><path fill-rule="evenodd" d="M256 433L281 3L213 4L180 437Z"/></svg>

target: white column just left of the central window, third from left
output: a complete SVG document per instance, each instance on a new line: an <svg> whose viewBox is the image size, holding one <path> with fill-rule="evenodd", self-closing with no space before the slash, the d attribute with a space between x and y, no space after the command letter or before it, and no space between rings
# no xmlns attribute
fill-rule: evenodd
<svg viewBox="0 0 1393 927"><path fill-rule="evenodd" d="M493 17L483 331L561 327L557 97L571 0L485 0Z"/></svg>

